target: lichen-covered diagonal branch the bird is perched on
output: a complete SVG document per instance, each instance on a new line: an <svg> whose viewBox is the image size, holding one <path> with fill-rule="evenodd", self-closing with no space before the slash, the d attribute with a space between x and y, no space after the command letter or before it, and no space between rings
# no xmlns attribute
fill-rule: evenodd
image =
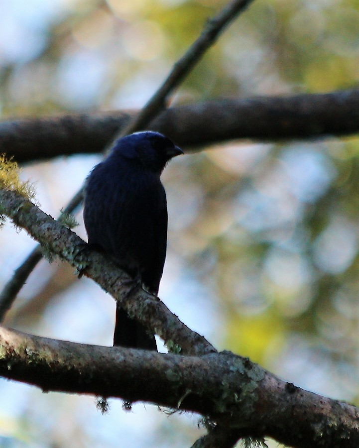
<svg viewBox="0 0 359 448"><path fill-rule="evenodd" d="M58 223L27 199L13 191L0 189L0 215L24 228L45 251L60 256L110 293L130 316L161 336L169 350L184 354L216 351L203 337L192 332L152 294L143 289L128 295L128 275L105 255L90 250L69 228Z"/></svg>

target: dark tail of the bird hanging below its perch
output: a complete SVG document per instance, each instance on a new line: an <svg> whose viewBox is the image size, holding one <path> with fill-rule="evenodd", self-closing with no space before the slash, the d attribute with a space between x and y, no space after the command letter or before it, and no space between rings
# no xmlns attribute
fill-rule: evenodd
<svg viewBox="0 0 359 448"><path fill-rule="evenodd" d="M119 306L116 308L114 345L157 351L154 335L149 335L142 324L130 319Z"/></svg>

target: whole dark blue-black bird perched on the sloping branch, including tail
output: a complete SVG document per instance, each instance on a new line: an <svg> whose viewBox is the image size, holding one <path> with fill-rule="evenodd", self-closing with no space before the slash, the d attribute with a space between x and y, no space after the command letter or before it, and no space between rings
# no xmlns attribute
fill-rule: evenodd
<svg viewBox="0 0 359 448"><path fill-rule="evenodd" d="M160 176L168 161L180 154L182 149L159 132L135 132L116 140L85 182L88 244L110 255L155 295L167 249L167 200ZM157 350L154 335L119 304L114 345Z"/></svg>

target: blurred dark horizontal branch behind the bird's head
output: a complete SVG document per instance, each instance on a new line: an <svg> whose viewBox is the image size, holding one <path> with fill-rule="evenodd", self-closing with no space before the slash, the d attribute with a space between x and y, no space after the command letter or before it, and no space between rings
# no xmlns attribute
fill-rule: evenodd
<svg viewBox="0 0 359 448"><path fill-rule="evenodd" d="M137 111L8 120L0 123L0 153L18 162L102 152ZM359 132L359 89L288 97L213 100L167 109L149 129L187 151L231 139L308 139Z"/></svg>

